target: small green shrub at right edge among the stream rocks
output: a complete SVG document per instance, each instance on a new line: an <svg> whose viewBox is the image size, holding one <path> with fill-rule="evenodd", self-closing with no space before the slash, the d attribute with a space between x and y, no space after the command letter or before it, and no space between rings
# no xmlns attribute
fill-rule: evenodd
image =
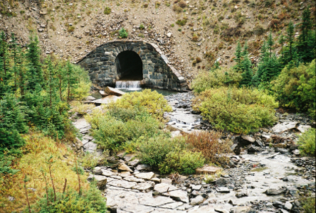
<svg viewBox="0 0 316 213"><path fill-rule="evenodd" d="M315 156L315 133L315 129L309 129L298 138L302 155Z"/></svg>

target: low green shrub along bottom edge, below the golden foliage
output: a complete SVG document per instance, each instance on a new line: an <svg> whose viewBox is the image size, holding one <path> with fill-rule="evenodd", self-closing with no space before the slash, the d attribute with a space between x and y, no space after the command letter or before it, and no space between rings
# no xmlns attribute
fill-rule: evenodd
<svg viewBox="0 0 316 213"><path fill-rule="evenodd" d="M42 213L107 212L105 198L102 197L100 190L98 190L95 184L92 184L90 189L85 191L83 195L79 195L73 189L68 189L65 193L56 192L56 201L54 201L53 189L50 188L48 190L48 201L45 194L31 209L36 209L36 212ZM26 207L24 211L28 212L28 208Z"/></svg>

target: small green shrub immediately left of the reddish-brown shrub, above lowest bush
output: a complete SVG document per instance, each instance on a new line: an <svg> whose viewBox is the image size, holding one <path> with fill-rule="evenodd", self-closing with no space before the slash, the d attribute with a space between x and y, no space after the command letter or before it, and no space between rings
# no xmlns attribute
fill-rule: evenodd
<svg viewBox="0 0 316 213"><path fill-rule="evenodd" d="M183 149L185 147L185 141L183 138L167 138L164 136L159 136L157 138L150 138L139 147L139 159L142 163L147 163L149 165L158 167L167 154L178 149Z"/></svg>

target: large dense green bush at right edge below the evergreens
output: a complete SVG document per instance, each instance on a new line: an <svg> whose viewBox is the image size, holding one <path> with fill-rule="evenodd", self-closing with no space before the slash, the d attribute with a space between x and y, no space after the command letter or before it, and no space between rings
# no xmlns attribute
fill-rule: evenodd
<svg viewBox="0 0 316 213"><path fill-rule="evenodd" d="M315 119L315 60L309 65L285 67L273 84L283 106L307 111Z"/></svg>

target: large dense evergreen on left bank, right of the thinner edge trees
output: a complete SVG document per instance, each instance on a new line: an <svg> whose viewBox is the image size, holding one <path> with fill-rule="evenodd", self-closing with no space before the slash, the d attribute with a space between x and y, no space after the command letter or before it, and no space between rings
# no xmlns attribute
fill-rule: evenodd
<svg viewBox="0 0 316 213"><path fill-rule="evenodd" d="M38 38L30 36L28 44L28 52L26 59L28 60L28 89L35 90L36 85L43 85L43 71L41 67L41 53L38 46Z"/></svg>

